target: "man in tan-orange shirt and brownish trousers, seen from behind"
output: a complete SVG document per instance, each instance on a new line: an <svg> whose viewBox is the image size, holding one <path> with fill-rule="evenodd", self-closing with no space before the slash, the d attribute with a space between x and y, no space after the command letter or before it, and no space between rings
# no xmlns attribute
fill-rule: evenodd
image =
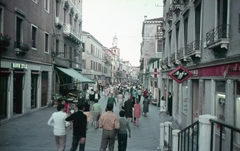
<svg viewBox="0 0 240 151"><path fill-rule="evenodd" d="M116 130L119 129L119 121L117 115L113 113L113 104L107 104L107 112L101 115L99 119L99 127L102 128L102 140L100 151L105 151L108 145L109 151L114 150Z"/></svg>

